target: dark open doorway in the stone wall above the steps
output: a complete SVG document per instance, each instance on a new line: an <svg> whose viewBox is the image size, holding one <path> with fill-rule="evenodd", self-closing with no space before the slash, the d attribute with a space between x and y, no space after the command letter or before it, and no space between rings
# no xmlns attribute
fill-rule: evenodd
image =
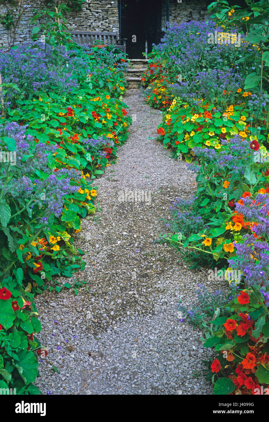
<svg viewBox="0 0 269 422"><path fill-rule="evenodd" d="M121 38L127 38L129 59L143 59L143 52L158 44L161 29L169 19L168 0L121 0Z"/></svg>

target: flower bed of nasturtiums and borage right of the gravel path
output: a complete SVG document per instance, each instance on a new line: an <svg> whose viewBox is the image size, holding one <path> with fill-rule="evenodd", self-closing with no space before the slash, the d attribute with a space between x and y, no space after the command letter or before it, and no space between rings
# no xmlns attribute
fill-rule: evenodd
<svg viewBox="0 0 269 422"><path fill-rule="evenodd" d="M192 309L182 300L182 320L215 348L205 362L215 394L257 395L269 384L268 8L221 3L208 22L168 27L142 83L163 111L159 140L197 174L196 196L175 200L160 241L231 287Z"/></svg>

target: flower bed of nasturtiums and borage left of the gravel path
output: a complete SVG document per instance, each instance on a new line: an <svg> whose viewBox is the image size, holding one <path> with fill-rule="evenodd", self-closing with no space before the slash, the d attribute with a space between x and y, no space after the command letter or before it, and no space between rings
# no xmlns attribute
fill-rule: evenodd
<svg viewBox="0 0 269 422"><path fill-rule="evenodd" d="M131 122L122 102L124 55L76 46L60 12L46 13L30 45L0 58L0 388L24 395L40 394L33 382L38 357L48 354L36 337L35 294L60 292L57 277L84 268L73 235L95 213L96 179ZM42 32L45 42L35 43Z"/></svg>

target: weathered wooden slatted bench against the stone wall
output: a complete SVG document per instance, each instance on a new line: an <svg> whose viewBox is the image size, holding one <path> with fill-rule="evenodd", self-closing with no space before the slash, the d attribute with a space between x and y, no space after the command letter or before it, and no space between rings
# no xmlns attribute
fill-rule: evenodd
<svg viewBox="0 0 269 422"><path fill-rule="evenodd" d="M99 44L101 45L114 45L117 49L126 53L127 38L119 39L118 32L70 31L70 34L73 35L73 41L79 45L94 47L97 44L96 41L100 41Z"/></svg>

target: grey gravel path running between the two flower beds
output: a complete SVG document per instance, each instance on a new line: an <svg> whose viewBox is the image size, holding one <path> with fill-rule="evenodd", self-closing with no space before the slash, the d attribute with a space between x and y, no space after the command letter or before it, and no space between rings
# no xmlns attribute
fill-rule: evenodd
<svg viewBox="0 0 269 422"><path fill-rule="evenodd" d="M195 176L154 140L160 112L139 90L124 100L134 119L130 136L96 183L99 211L75 238L87 252L86 268L58 280L87 284L77 296L70 288L36 299L49 355L35 384L43 394L212 394L197 374L212 351L198 340L199 329L179 322L176 306L180 299L191 305L197 283L209 282L178 262L175 249L152 243L165 232L159 219L169 218L171 202L195 193ZM150 191L151 203L120 202L125 189Z"/></svg>

